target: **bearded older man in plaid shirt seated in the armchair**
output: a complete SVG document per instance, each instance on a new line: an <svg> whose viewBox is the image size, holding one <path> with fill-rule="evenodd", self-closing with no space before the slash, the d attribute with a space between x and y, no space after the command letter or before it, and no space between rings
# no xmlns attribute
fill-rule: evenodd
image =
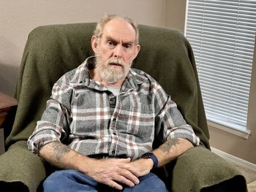
<svg viewBox="0 0 256 192"><path fill-rule="evenodd" d="M132 19L105 15L91 37L95 56L53 86L28 140L29 150L59 168L44 191L167 191L151 170L199 145L162 87L130 68L138 36Z"/></svg>

